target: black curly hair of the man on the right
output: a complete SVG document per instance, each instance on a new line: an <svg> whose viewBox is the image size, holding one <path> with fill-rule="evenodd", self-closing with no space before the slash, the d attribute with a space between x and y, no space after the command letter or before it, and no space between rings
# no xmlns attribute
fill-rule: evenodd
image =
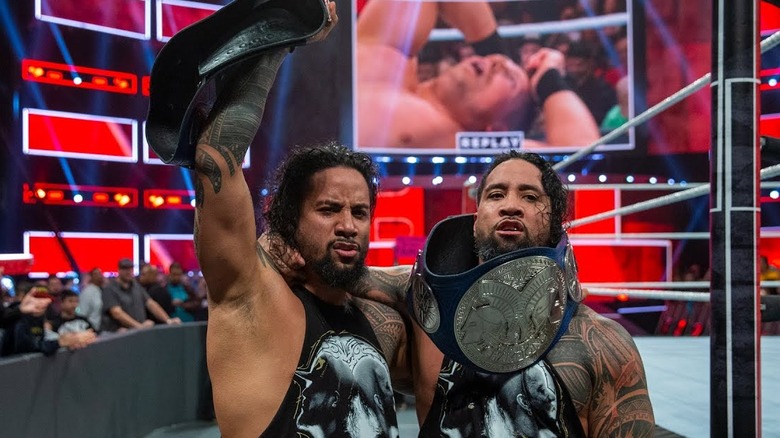
<svg viewBox="0 0 780 438"><path fill-rule="evenodd" d="M479 202L482 200L482 191L485 189L487 177L499 164L509 160L527 161L542 172L542 188L550 197L550 246L554 247L561 241L564 234L564 220L569 215L569 191L552 165L541 155L512 150L495 157L490 167L482 175L482 181L477 188L477 205L479 206Z"/></svg>

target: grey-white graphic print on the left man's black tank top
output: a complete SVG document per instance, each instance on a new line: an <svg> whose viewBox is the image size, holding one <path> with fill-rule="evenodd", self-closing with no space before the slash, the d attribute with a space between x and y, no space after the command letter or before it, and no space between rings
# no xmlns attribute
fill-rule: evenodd
<svg viewBox="0 0 780 438"><path fill-rule="evenodd" d="M366 340L329 332L294 382L303 437L397 438L395 400L384 357Z"/></svg>

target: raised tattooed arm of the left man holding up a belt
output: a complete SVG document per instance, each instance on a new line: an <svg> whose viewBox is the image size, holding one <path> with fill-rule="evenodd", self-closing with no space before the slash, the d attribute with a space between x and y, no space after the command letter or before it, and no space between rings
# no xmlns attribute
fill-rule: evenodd
<svg viewBox="0 0 780 438"><path fill-rule="evenodd" d="M246 285L273 272L255 249L254 208L241 163L286 53L276 50L240 66L246 71L222 91L198 141L194 238L215 306L240 299L250 292Z"/></svg>

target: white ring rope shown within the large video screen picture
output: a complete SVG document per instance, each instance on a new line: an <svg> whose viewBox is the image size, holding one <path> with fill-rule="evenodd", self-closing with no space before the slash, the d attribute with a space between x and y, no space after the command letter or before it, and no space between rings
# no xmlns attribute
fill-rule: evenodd
<svg viewBox="0 0 780 438"><path fill-rule="evenodd" d="M574 30L600 29L609 26L625 26L628 23L628 13L600 15L598 17L574 18L563 21L543 21L541 23L510 24L499 26L496 31L501 37L513 38L523 35L543 35L550 33L565 33ZM458 29L433 29L428 41L459 41L463 33Z"/></svg>

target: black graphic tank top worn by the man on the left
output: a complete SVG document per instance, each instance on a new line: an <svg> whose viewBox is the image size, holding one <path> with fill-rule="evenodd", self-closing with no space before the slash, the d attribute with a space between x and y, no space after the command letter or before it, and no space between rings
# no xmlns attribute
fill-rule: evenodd
<svg viewBox="0 0 780 438"><path fill-rule="evenodd" d="M389 367L368 319L354 305L328 304L302 288L293 292L306 313L303 350L261 438L398 437Z"/></svg>

